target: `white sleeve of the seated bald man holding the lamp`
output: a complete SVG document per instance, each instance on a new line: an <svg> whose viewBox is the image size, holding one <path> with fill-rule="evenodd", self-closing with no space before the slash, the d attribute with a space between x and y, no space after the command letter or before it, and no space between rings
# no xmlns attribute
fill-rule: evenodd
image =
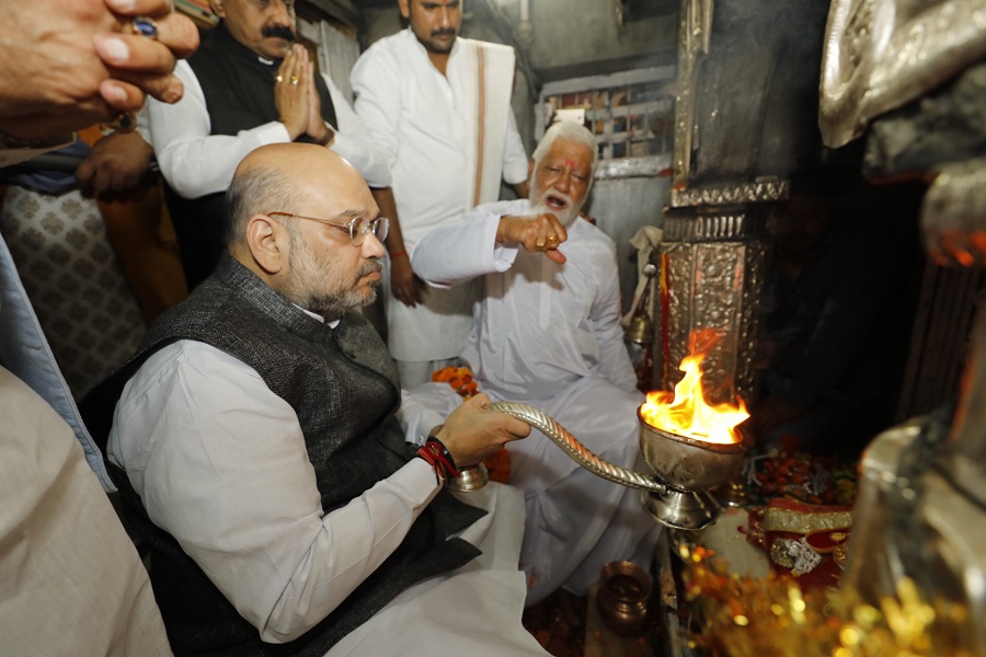
<svg viewBox="0 0 986 657"><path fill-rule="evenodd" d="M255 370L182 341L116 407L110 459L261 638L297 638L401 543L438 491L413 459L325 515L294 410Z"/></svg>

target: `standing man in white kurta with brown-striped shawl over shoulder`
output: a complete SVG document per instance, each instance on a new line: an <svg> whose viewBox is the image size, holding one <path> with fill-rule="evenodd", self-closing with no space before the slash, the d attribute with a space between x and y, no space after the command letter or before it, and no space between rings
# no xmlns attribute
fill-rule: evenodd
<svg viewBox="0 0 986 657"><path fill-rule="evenodd" d="M367 49L351 81L393 178L397 207L380 209L399 217L406 247L391 251L383 287L390 350L409 388L459 355L475 288L425 289L408 253L428 230L500 198L501 181L527 196L527 155L511 110L513 49L458 37L459 0L398 3L410 26Z"/></svg>

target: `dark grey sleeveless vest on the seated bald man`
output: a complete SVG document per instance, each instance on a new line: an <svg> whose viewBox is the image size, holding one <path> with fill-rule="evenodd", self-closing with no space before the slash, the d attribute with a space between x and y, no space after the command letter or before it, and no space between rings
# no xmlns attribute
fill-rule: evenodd
<svg viewBox="0 0 986 657"><path fill-rule="evenodd" d="M290 404L326 514L411 458L394 417L400 402L397 371L369 322L348 313L332 330L228 255L213 277L154 323L137 356L80 404L104 454L124 384L147 358L179 339L204 342L239 358ZM125 519L150 548L151 584L175 655L321 656L405 588L465 565L480 553L449 537L485 511L443 491L400 548L321 623L289 644L265 644L177 542L149 520L126 474L115 466L111 470Z"/></svg>

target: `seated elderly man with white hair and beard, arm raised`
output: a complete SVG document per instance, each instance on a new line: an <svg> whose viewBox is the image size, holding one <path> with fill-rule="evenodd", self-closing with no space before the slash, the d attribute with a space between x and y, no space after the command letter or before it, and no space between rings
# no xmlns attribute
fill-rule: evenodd
<svg viewBox="0 0 986 657"><path fill-rule="evenodd" d="M480 391L539 408L597 456L638 468L644 397L619 322L616 245L580 216L596 152L587 129L555 124L528 166L530 201L486 204L431 231L415 245L412 266L434 286L483 277L462 351ZM413 391L402 408L405 425L413 430L447 412L456 403L450 391ZM609 561L650 565L658 528L638 491L582 469L537 431L508 451L509 483L526 498L520 565L528 606L559 587L585 595Z"/></svg>

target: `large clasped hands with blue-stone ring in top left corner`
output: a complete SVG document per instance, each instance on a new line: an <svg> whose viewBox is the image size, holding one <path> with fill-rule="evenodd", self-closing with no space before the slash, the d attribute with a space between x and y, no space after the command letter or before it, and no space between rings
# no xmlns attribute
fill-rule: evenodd
<svg viewBox="0 0 986 657"><path fill-rule="evenodd" d="M3 2L0 132L41 140L138 110L148 94L174 103L175 61L196 47L195 24L170 0Z"/></svg>

